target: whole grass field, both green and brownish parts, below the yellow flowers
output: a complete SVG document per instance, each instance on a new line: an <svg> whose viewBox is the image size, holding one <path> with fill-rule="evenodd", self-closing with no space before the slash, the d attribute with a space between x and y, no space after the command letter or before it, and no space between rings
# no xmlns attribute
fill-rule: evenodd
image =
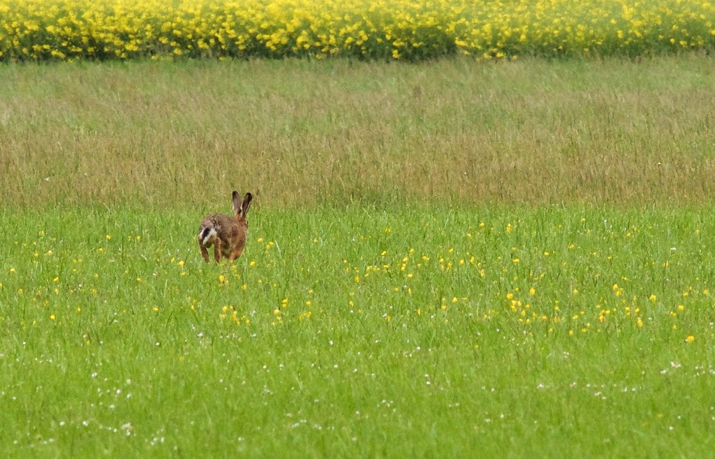
<svg viewBox="0 0 715 459"><path fill-rule="evenodd" d="M713 450L708 57L0 79L9 455Z"/></svg>

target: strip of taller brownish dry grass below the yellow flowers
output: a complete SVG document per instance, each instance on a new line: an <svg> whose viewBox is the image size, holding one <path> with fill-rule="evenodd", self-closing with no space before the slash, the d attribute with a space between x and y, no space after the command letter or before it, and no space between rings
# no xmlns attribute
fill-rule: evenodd
<svg viewBox="0 0 715 459"><path fill-rule="evenodd" d="M4 206L698 203L715 62L0 67Z"/></svg>

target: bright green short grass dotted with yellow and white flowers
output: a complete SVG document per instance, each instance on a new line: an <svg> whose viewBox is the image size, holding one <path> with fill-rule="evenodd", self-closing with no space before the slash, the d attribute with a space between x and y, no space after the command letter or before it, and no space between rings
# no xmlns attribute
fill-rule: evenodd
<svg viewBox="0 0 715 459"><path fill-rule="evenodd" d="M709 211L250 217L245 256L215 266L194 247L194 212L4 211L4 449L711 450Z"/></svg>

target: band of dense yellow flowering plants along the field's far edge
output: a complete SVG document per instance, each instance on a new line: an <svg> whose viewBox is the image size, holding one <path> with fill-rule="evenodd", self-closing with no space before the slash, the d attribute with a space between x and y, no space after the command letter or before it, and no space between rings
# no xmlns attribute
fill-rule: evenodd
<svg viewBox="0 0 715 459"><path fill-rule="evenodd" d="M0 61L715 49L707 0L0 0Z"/></svg>

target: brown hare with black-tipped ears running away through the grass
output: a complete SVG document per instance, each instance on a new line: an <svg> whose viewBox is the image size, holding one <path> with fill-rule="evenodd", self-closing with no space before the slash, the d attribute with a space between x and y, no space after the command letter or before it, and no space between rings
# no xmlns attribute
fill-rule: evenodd
<svg viewBox="0 0 715 459"><path fill-rule="evenodd" d="M214 246L214 261L218 263L221 256L234 261L241 256L243 248L246 246L246 235L248 234L248 221L246 213L251 205L251 193L246 193L243 201L237 191L233 192L233 210L235 217L214 213L207 215L199 226L199 248L201 256L206 263L209 262L207 248Z"/></svg>

